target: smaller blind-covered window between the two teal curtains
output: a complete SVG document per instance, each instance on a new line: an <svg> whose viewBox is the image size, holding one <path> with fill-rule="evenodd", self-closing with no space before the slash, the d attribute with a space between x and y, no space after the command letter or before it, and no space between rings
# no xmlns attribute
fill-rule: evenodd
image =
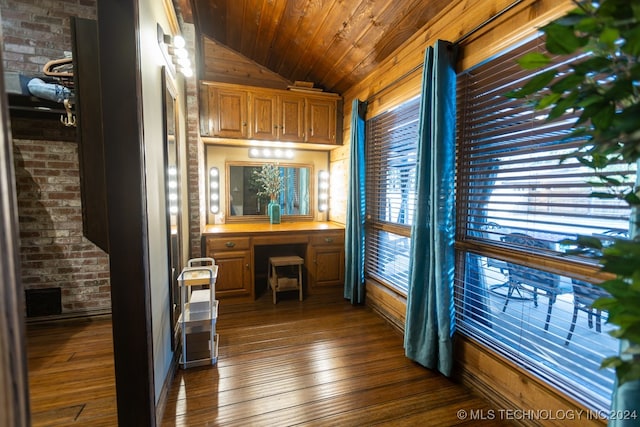
<svg viewBox="0 0 640 427"><path fill-rule="evenodd" d="M401 293L409 277L419 98L366 123L365 273Z"/></svg>

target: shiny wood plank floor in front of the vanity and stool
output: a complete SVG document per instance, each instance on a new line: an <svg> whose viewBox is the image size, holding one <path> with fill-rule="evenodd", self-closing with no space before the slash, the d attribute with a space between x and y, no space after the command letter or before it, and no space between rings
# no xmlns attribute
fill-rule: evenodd
<svg viewBox="0 0 640 427"><path fill-rule="evenodd" d="M458 410L489 409L405 358L370 309L339 293L278 298L220 303L218 364L177 372L163 426L448 426L468 422Z"/></svg>

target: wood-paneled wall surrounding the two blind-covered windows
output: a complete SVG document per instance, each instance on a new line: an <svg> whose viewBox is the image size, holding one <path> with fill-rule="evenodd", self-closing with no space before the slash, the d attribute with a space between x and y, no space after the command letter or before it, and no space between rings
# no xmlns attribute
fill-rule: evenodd
<svg viewBox="0 0 640 427"><path fill-rule="evenodd" d="M332 179L348 180L353 99L369 101L367 117L373 117L419 94L422 61L427 46L437 39L460 42L458 70L468 69L508 46L532 36L536 29L574 7L570 0L457 0L424 26L385 63L344 98L343 146L331 153ZM506 11L501 13L502 11ZM492 19L496 15L497 18ZM484 23L491 21L489 24ZM470 34L472 33L472 34ZM340 185L342 191L346 188ZM333 187L332 188L336 188ZM332 193L331 220L344 222L346 197ZM396 328L404 329L406 299L373 281L367 282L367 304ZM458 379L487 395L499 408L581 410L563 396L506 359L462 336L457 337ZM562 421L558 421L562 422ZM600 421L588 421L601 424ZM535 424L535 421L524 422Z"/></svg>

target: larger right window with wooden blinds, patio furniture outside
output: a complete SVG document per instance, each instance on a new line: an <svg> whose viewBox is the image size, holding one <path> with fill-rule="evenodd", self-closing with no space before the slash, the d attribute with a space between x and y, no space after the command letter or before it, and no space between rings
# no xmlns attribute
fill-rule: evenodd
<svg viewBox="0 0 640 427"><path fill-rule="evenodd" d="M503 96L530 71L515 59L543 49L531 41L458 76L457 325L597 410L608 409L614 373L600 370L618 345L606 313L590 309L602 295L598 270L569 255L565 239L626 236L629 209L602 191L594 172L570 154L576 117L553 123L544 111ZM556 58L569 67L575 58ZM602 177L632 185L635 171L614 165Z"/></svg>

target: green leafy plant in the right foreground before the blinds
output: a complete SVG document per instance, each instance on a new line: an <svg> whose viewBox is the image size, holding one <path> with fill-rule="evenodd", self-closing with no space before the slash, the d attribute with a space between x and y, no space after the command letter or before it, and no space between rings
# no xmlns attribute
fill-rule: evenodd
<svg viewBox="0 0 640 427"><path fill-rule="evenodd" d="M572 136L582 137L585 142L573 156L597 176L598 171L621 161L627 165L640 163L640 1L575 3L575 10L541 31L550 54L589 55L580 56L563 74L547 68L551 59L546 54L524 55L519 64L540 72L506 96L529 99L536 109L548 111L547 120L577 111L579 118ZM612 409L635 411L636 419L631 420L635 423L640 417L640 187L636 178L635 187L612 190L620 184L619 180L603 178L599 185L605 191L593 196L617 197L629 204L631 238L615 239L606 247L587 236L574 243L596 253L602 271L615 275L599 284L610 297L594 303L594 307L608 312L608 323L617 327L611 335L621 340L620 354L605 359L602 367L614 368L620 389L626 384L626 391L632 390L622 394L633 395L633 399ZM620 401L620 397L614 399L614 405L620 405ZM631 407L625 406L629 404ZM612 418L610 425L618 421Z"/></svg>

